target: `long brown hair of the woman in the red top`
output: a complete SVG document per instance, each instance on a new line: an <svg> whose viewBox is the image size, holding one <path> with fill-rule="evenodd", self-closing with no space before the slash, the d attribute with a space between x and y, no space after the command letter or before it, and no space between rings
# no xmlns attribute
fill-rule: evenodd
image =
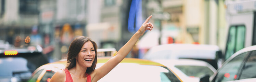
<svg viewBox="0 0 256 82"><path fill-rule="evenodd" d="M95 69L97 64L97 44L90 38L84 37L84 36L77 37L75 40L71 42L68 49L68 53L67 53L67 64L65 67L66 69L71 69L76 66L76 57L80 52L80 50L82 49L82 46L88 41L92 42L93 44L94 51L95 51L95 58L92 63L92 66L87 68L86 73L90 73Z"/></svg>

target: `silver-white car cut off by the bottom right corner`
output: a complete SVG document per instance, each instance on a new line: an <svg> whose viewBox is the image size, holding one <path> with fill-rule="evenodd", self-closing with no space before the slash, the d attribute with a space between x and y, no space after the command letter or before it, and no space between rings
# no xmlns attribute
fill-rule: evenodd
<svg viewBox="0 0 256 82"><path fill-rule="evenodd" d="M234 53L213 76L201 77L201 82L255 82L256 45Z"/></svg>

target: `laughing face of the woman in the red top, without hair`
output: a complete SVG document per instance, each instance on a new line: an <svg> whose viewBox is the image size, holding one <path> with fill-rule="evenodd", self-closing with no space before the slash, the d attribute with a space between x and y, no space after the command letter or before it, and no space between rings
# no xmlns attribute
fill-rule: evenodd
<svg viewBox="0 0 256 82"><path fill-rule="evenodd" d="M78 53L77 57L77 64L79 64L82 67L91 67L92 63L95 58L95 50L93 47L92 42L88 41L86 42L80 52Z"/></svg>

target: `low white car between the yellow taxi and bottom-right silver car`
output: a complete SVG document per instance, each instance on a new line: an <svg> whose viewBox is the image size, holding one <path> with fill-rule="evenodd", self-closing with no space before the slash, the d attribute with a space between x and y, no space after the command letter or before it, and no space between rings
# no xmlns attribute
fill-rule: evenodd
<svg viewBox="0 0 256 82"><path fill-rule="evenodd" d="M207 74L212 76L216 69L209 63L195 59L153 60L175 71L184 82L199 82L200 77Z"/></svg>

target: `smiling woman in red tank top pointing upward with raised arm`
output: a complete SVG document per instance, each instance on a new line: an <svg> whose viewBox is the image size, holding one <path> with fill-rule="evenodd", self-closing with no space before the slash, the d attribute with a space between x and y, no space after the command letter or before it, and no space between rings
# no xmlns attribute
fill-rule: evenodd
<svg viewBox="0 0 256 82"><path fill-rule="evenodd" d="M57 71L50 82L97 82L126 57L146 30L152 30L153 24L148 23L151 17L149 16L145 20L140 29L121 47L114 57L97 69L95 69L97 44L87 37L76 38L69 46L66 68Z"/></svg>

